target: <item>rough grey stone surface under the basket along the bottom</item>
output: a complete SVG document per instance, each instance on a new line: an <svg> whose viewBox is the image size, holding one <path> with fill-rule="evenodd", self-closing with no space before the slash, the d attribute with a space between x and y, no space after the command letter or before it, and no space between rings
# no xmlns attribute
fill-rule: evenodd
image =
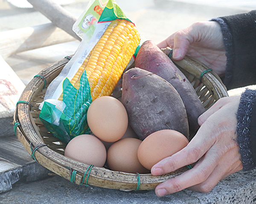
<svg viewBox="0 0 256 204"><path fill-rule="evenodd" d="M32 183L17 182L0 194L0 204L255 204L256 170L237 172L220 181L210 193L182 190L157 197L154 190L121 191L80 186L61 178L48 177Z"/></svg>

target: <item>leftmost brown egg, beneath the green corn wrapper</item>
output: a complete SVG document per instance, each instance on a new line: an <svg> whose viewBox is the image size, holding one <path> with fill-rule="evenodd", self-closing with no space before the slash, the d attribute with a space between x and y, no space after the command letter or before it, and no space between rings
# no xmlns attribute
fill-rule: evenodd
<svg viewBox="0 0 256 204"><path fill-rule="evenodd" d="M99 138L84 134L70 140L65 148L64 156L84 164L103 167L107 159L107 151Z"/></svg>

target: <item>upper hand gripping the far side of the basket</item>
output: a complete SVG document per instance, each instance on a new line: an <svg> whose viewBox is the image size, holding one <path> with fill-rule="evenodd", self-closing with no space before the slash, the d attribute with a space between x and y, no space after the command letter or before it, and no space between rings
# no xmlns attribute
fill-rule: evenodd
<svg viewBox="0 0 256 204"><path fill-rule="evenodd" d="M193 23L169 36L157 45L173 48L173 59L181 60L185 55L198 59L219 76L224 75L227 63L223 36L215 21Z"/></svg>

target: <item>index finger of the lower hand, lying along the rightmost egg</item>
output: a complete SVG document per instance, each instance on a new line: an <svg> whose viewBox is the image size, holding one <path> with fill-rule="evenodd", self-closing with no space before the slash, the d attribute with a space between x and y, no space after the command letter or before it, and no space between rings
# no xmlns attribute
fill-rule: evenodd
<svg viewBox="0 0 256 204"><path fill-rule="evenodd" d="M155 164L151 168L151 174L159 176L198 161L215 143L214 137L205 137L211 135L212 128L208 122L204 123L186 147Z"/></svg>

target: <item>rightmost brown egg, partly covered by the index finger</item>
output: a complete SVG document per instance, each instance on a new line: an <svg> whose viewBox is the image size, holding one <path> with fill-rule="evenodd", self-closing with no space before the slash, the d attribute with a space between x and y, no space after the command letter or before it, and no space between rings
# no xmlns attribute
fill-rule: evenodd
<svg viewBox="0 0 256 204"><path fill-rule="evenodd" d="M151 170L158 161L172 156L189 143L186 136L175 130L159 130L147 136L138 148L140 163Z"/></svg>

